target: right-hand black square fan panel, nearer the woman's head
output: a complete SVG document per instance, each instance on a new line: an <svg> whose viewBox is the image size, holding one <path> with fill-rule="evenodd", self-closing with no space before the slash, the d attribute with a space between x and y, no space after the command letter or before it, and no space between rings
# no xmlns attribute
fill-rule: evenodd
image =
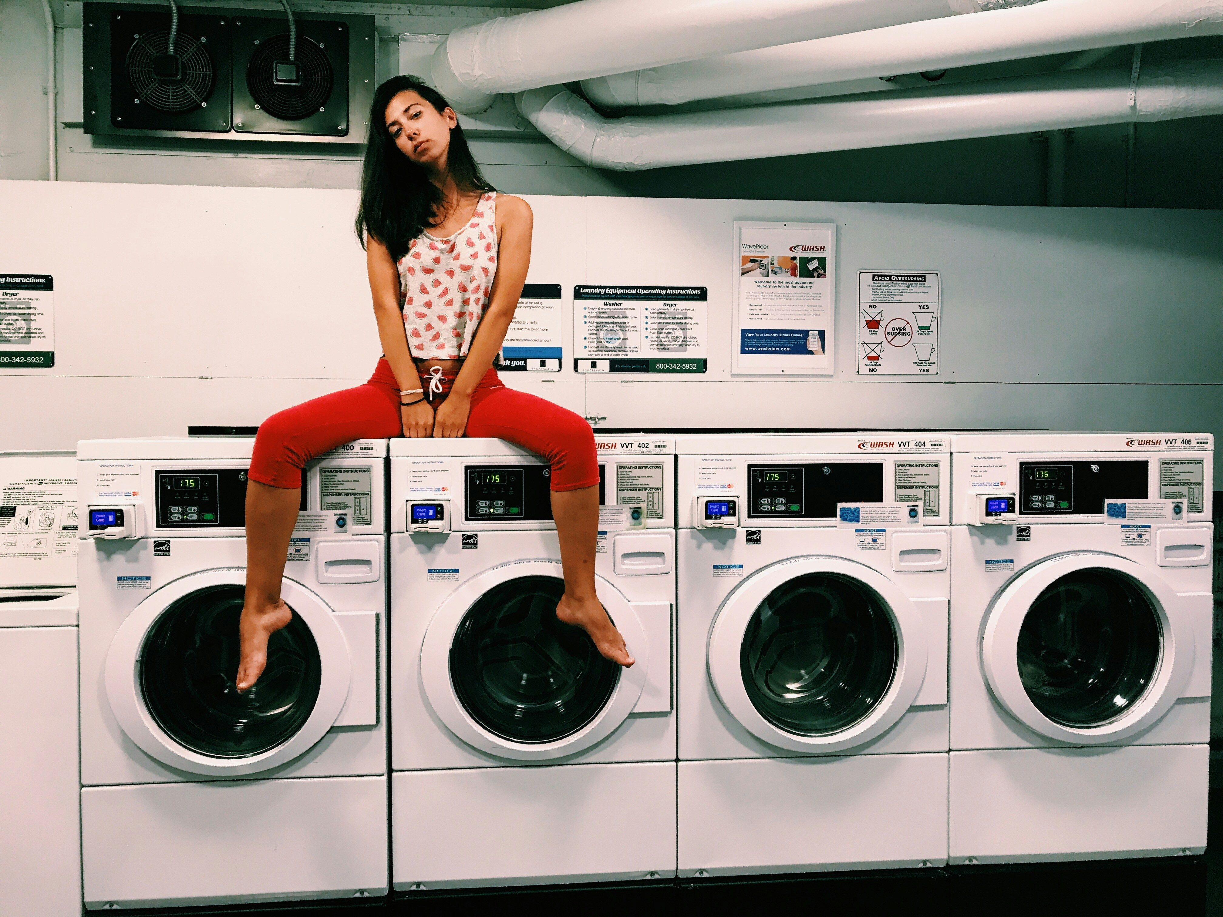
<svg viewBox="0 0 1223 917"><path fill-rule="evenodd" d="M349 23L297 16L290 53L284 17L234 20L234 130L349 133Z"/></svg>

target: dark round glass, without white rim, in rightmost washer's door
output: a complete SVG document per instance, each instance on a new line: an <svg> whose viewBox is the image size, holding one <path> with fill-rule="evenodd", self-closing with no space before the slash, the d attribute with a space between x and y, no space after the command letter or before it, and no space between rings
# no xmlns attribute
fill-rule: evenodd
<svg viewBox="0 0 1223 917"><path fill-rule="evenodd" d="M1019 676L1036 709L1063 726L1099 726L1126 714L1159 668L1159 615L1115 570L1054 580L1019 630Z"/></svg>

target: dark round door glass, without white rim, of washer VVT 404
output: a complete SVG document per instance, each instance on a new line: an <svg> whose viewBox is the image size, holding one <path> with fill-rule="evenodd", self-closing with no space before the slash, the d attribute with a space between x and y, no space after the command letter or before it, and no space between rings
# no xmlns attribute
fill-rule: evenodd
<svg viewBox="0 0 1223 917"><path fill-rule="evenodd" d="M896 671L898 639L884 600L829 572L789 580L747 622L740 671L764 719L797 736L828 736L862 721Z"/></svg>

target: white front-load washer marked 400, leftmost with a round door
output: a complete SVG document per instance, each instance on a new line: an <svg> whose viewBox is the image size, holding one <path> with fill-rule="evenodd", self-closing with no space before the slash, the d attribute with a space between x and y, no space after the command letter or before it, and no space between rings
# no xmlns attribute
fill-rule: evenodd
<svg viewBox="0 0 1223 917"><path fill-rule="evenodd" d="M240 694L252 444L77 446L88 908L388 890L386 441L308 467L294 617Z"/></svg>

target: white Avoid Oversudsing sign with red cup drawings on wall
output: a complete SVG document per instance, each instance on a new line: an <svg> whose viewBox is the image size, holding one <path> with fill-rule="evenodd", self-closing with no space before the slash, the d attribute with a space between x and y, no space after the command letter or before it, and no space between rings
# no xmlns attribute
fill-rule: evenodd
<svg viewBox="0 0 1223 917"><path fill-rule="evenodd" d="M857 273L859 375L938 375L937 270Z"/></svg>

